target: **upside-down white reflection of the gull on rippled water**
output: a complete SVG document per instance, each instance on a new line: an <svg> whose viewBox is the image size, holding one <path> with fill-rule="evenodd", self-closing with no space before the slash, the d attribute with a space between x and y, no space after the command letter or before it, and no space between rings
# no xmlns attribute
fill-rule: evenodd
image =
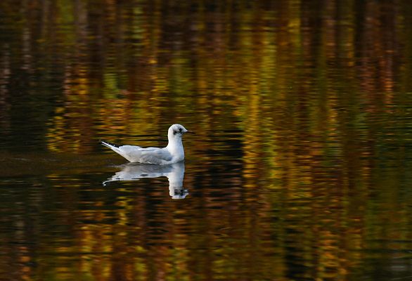
<svg viewBox="0 0 412 281"><path fill-rule="evenodd" d="M141 178L166 176L169 179L169 195L172 199L184 199L189 194L183 187L184 169L184 162L168 165L128 163L122 165L122 170L104 181L103 185L111 181L139 181Z"/></svg>

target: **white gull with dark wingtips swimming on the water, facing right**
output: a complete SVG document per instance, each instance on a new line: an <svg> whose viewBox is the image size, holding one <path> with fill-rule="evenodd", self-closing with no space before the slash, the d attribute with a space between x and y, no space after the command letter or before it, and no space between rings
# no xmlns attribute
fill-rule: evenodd
<svg viewBox="0 0 412 281"><path fill-rule="evenodd" d="M141 148L136 145L111 145L101 142L114 152L122 155L129 162L139 162L143 164L174 164L184 160L184 148L181 137L189 131L184 126L174 124L167 131L169 143L165 148Z"/></svg>

